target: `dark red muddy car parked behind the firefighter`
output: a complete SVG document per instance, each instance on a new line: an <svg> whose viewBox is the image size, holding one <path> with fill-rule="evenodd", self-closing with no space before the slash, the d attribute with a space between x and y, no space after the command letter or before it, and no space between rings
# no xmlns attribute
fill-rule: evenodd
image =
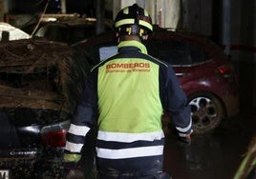
<svg viewBox="0 0 256 179"><path fill-rule="evenodd" d="M224 51L211 40L155 27L146 47L150 55L172 64L187 94L195 133L213 131L238 113L236 73ZM96 64L117 52L117 40L114 32L106 32L75 48L86 51Z"/></svg>

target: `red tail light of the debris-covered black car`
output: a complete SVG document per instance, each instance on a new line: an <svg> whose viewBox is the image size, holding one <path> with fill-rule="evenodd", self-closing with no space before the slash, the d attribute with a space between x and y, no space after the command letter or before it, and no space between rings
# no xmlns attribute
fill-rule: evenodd
<svg viewBox="0 0 256 179"><path fill-rule="evenodd" d="M41 129L42 142L45 147L62 148L66 144L66 133L70 122L50 125Z"/></svg>

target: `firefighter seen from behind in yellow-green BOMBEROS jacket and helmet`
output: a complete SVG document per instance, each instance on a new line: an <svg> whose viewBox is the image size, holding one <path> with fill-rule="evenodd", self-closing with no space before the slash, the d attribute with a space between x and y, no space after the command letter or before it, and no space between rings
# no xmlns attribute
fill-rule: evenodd
<svg viewBox="0 0 256 179"><path fill-rule="evenodd" d="M153 26L146 10L137 4L120 10L115 29L117 54L88 75L64 160L78 163L97 118L97 178L170 178L162 171L161 115L170 115L179 136L189 141L193 130L186 95L171 65L147 54L143 43Z"/></svg>

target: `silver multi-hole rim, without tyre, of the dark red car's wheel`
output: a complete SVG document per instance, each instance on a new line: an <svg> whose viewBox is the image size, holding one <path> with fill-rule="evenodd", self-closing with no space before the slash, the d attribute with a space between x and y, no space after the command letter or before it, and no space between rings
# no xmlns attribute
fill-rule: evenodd
<svg viewBox="0 0 256 179"><path fill-rule="evenodd" d="M190 101L191 117L195 129L214 128L218 117L217 105L207 97L197 97Z"/></svg>

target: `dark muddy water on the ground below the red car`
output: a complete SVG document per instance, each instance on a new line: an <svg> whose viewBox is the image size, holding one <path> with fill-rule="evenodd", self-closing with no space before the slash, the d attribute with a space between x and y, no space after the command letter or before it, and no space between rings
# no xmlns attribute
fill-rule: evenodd
<svg viewBox="0 0 256 179"><path fill-rule="evenodd" d="M193 136L190 145L166 139L164 170L173 179L232 179L256 134L256 115L239 114L211 134Z"/></svg>

